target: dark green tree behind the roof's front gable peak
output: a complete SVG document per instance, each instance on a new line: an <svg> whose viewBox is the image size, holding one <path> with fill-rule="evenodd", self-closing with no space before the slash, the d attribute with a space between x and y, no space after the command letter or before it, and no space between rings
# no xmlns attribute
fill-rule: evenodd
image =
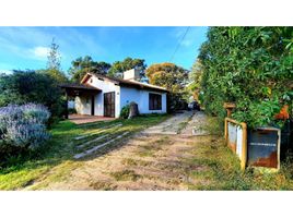
<svg viewBox="0 0 293 218"><path fill-rule="evenodd" d="M69 69L71 80L79 83L86 73L94 72L106 74L110 69L110 64L104 61L96 62L90 56L80 57L71 62L72 66Z"/></svg>

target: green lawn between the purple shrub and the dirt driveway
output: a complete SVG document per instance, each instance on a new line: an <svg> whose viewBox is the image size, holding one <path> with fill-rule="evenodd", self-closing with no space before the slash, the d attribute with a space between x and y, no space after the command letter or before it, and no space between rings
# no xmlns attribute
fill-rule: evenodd
<svg viewBox="0 0 293 218"><path fill-rule="evenodd" d="M110 122L96 122L94 124L75 125L70 121L61 121L52 126L51 140L47 145L38 152L34 158L15 158L14 164L0 170L0 190L21 190L31 184L36 184L34 189L40 189L48 183L58 181L67 177L70 171L83 164L82 160L74 160L73 155L81 153L77 146L97 137L98 135L107 134L109 137L115 137L122 132L130 132L129 135L141 131L148 126L154 125L167 119L167 114L152 114L139 117L131 120L115 120ZM109 125L122 123L122 126ZM106 130L103 133L96 133L98 130ZM95 133L84 140L74 141L78 135ZM127 135L127 137L129 136ZM104 138L107 142L108 137ZM125 138L120 138L119 142ZM98 142L103 143L103 142ZM110 149L119 146L122 143L115 143L101 149L96 155L103 155ZM91 146L91 145L89 145ZM87 146L87 147L89 147ZM94 145L92 145L94 146ZM85 147L84 149L86 149ZM93 156L89 157L92 158Z"/></svg>

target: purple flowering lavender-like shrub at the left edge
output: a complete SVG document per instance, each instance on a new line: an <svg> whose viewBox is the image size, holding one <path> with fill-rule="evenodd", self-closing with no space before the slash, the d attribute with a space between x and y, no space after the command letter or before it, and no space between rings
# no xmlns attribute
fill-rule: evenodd
<svg viewBox="0 0 293 218"><path fill-rule="evenodd" d="M42 105L10 105L0 108L0 147L35 149L49 138L46 122L50 113Z"/></svg>

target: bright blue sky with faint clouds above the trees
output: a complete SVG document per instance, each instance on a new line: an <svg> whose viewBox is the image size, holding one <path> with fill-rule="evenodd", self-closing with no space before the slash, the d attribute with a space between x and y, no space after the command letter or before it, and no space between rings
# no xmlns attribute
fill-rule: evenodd
<svg viewBox="0 0 293 218"><path fill-rule="evenodd" d="M144 59L148 65L168 62L187 27L0 27L0 72L46 68L48 48L55 38L61 68L91 56L95 61ZM172 62L190 69L208 27L190 27Z"/></svg>

